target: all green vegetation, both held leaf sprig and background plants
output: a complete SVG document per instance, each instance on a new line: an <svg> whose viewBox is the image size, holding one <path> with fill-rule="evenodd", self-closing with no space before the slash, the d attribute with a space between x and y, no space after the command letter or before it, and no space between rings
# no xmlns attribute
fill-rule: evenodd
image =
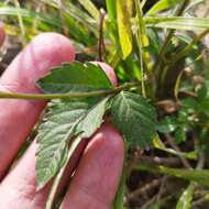
<svg viewBox="0 0 209 209"><path fill-rule="evenodd" d="M38 188L56 176L47 208L67 161L107 112L127 146L113 209L208 208L209 62L204 38L209 18L194 14L202 2L158 0L148 8L146 0L0 3L7 33L22 46L42 32L58 32L72 38L79 61L40 79L43 95L0 92L1 98L52 99L37 133ZM88 63L94 59L114 68L118 87Z"/></svg>

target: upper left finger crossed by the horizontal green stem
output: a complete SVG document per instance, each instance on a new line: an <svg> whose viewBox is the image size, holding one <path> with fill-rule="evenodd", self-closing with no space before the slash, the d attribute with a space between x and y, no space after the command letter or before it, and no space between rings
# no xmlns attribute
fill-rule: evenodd
<svg viewBox="0 0 209 209"><path fill-rule="evenodd" d="M70 62L75 57L72 43L55 33L38 35L12 62L0 78L0 91L40 92L37 78L51 67ZM0 100L0 179L15 157L45 102L29 100ZM9 151L9 152L8 152Z"/></svg>

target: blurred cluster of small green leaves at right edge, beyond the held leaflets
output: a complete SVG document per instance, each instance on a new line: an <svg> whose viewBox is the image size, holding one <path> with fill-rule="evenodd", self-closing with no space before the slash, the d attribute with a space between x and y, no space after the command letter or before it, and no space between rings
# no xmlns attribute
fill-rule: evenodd
<svg viewBox="0 0 209 209"><path fill-rule="evenodd" d="M189 131L200 133L208 128L208 80L202 80L202 84L193 90L194 94L191 96L179 101L180 108L177 113L166 116L157 123L157 131L165 134L173 133L177 144L187 140L186 134Z"/></svg>

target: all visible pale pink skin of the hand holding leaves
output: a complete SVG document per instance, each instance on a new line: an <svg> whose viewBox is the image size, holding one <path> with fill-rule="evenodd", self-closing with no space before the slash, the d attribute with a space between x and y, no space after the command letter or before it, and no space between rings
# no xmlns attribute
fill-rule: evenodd
<svg viewBox="0 0 209 209"><path fill-rule="evenodd" d="M0 44L4 32L0 24ZM73 62L75 50L63 35L36 36L10 64L0 78L0 91L38 94L35 80L53 66ZM106 64L100 64L112 84L117 78ZM9 169L30 131L46 106L45 101L0 99L0 208L44 209L52 183L36 191L36 140ZM80 143L62 179L58 193L69 183L62 209L109 209L120 182L123 166L123 140L108 123L89 140ZM78 163L79 160L79 163Z"/></svg>

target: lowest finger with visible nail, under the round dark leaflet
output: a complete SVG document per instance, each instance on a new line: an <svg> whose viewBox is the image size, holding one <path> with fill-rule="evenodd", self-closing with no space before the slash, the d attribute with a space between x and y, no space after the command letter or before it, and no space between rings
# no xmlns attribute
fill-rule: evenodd
<svg viewBox="0 0 209 209"><path fill-rule="evenodd" d="M109 209L123 167L123 140L105 124L88 144L62 209Z"/></svg>

